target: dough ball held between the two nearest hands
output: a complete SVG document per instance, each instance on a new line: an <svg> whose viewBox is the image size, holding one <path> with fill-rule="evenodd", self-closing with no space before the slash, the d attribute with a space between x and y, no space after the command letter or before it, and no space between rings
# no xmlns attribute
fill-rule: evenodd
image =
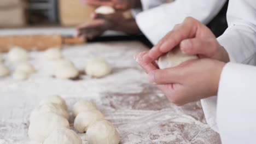
<svg viewBox="0 0 256 144"><path fill-rule="evenodd" d="M185 61L197 58L196 55L187 55L179 47L176 47L158 59L158 66L160 69L172 68Z"/></svg>

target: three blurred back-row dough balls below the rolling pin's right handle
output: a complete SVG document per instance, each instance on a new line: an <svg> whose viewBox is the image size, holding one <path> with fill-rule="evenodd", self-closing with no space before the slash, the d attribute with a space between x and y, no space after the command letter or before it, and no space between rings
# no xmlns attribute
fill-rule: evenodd
<svg viewBox="0 0 256 144"><path fill-rule="evenodd" d="M54 75L60 79L73 79L79 75L79 70L69 59L63 58L61 50L53 48L45 51L45 57L51 61L56 61ZM91 59L85 67L85 73L91 77L103 77L110 74L112 67L103 58Z"/></svg>

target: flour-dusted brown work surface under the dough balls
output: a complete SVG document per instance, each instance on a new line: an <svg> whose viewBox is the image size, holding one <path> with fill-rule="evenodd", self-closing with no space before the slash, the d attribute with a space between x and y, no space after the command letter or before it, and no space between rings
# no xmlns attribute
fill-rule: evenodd
<svg viewBox="0 0 256 144"><path fill-rule="evenodd" d="M200 102L175 106L148 83L133 59L144 50L135 41L65 46L63 55L80 70L92 57L106 58L113 66L113 73L102 79L85 75L75 81L55 79L43 52L31 52L36 74L24 82L0 79L0 143L36 143L27 136L28 118L41 99L54 94L65 98L69 112L75 101L93 101L118 128L120 143L220 143L205 122ZM71 116L72 128L73 121ZM87 143L85 134L79 135Z"/></svg>

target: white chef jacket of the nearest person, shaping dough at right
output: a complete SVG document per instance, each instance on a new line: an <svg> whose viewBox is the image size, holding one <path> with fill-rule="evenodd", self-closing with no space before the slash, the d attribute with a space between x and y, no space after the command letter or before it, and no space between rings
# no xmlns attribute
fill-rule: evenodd
<svg viewBox="0 0 256 144"><path fill-rule="evenodd" d="M218 38L218 41L220 45L225 47L226 51L228 51L230 61L236 63L256 65L256 1L230 0L227 19L229 27L228 29L226 29L224 34ZM254 89L256 89L256 81L255 79L253 79L253 76L254 78L256 76L256 72L254 71L254 74L252 74L251 72L251 75L248 74L250 73L249 69L254 70L255 68L248 68L248 70L245 70L245 68L246 67L243 67L241 65L227 64L223 70L223 74L220 79L218 103L216 96L201 100L207 123L210 125L212 129L216 131L218 131L219 126L220 135L222 136L222 139L226 141L225 143L231 142L231 139L236 140L236 137L229 137L230 141L228 141L228 139L223 138L225 136L231 136L228 135L228 133L238 133L238 136L240 134L243 135L243 133L247 134L249 130L251 130L248 129L248 131L245 131L245 128L243 130L240 129L241 131L232 131L238 130L238 128L235 129L236 127L243 127L243 123L234 122L241 121L240 116L243 116L241 115L241 112L245 112L246 115L247 111L249 110L249 107L252 106L246 105L246 103L250 104L252 101L254 101L254 107L251 107L251 109L256 109L256 94L253 93L253 91L249 91L250 88L253 87ZM238 74L237 71L241 71L241 73ZM252 79L248 79L248 77L246 79L245 76L247 75L249 77L251 76ZM243 80L244 78L245 80ZM241 95L238 95L238 93ZM238 100L238 98L240 99L240 101ZM241 105L245 107L241 107ZM247 111L245 111L246 109ZM236 112L237 115L235 115ZM231 117L229 117L229 113L232 113L232 118L234 119L230 119ZM218 118L218 123L216 121L216 117ZM255 117L256 115L254 113L254 117L252 116L251 118L255 119ZM251 120L248 120L248 122L249 121ZM256 121L254 121L254 124L255 123ZM230 127L225 127L225 124L229 126L230 124L233 124L233 129ZM245 125L245 127L247 126ZM222 131L224 131L225 136L223 136L224 134L222 134ZM252 139L255 140L255 137L256 136L254 135ZM237 137L237 139L238 138L239 136ZM239 142L237 141L231 143ZM240 143L247 142L240 141ZM256 141L254 141L254 143L256 143Z"/></svg>

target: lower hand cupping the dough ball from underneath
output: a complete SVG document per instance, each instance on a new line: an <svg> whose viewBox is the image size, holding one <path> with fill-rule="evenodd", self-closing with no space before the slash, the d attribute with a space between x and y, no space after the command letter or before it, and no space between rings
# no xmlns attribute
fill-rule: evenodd
<svg viewBox="0 0 256 144"><path fill-rule="evenodd" d="M145 52L135 56L139 64L143 63L139 58L143 55ZM158 69L154 62L141 66L148 73L149 81L156 83L168 100L184 105L216 95L224 65L224 62L202 58L164 70Z"/></svg>

